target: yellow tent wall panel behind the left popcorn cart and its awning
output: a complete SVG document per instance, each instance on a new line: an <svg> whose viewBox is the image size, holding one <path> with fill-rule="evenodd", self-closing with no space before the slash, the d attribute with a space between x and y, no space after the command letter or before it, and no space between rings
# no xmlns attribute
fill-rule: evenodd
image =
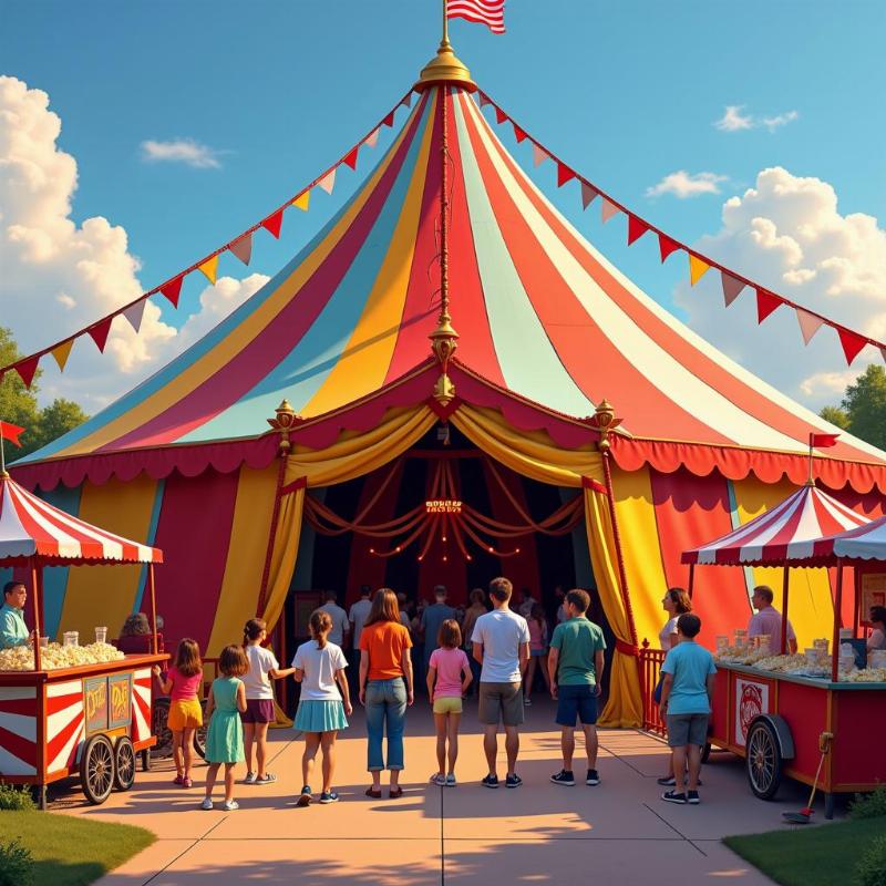
<svg viewBox="0 0 886 886"><path fill-rule="evenodd" d="M101 486L84 483L80 519L137 542L147 539L156 481L146 475L122 483L113 478ZM80 642L93 642L96 626L107 627L109 638L119 636L132 612L142 578L142 566L72 566L59 622L59 636L80 631Z"/></svg>

